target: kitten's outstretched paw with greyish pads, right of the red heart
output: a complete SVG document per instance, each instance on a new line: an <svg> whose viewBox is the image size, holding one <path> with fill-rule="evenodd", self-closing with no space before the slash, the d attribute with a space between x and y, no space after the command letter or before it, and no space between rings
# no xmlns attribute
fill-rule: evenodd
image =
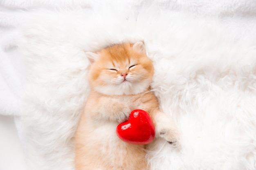
<svg viewBox="0 0 256 170"><path fill-rule="evenodd" d="M164 138L171 146L180 147L180 135L176 130L162 129L160 137Z"/></svg>

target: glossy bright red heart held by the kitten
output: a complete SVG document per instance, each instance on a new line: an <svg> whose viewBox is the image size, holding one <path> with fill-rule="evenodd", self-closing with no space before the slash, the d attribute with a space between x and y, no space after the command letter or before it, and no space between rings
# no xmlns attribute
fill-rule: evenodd
<svg viewBox="0 0 256 170"><path fill-rule="evenodd" d="M136 109L130 113L128 121L117 126L116 133L129 144L149 144L155 138L155 127L146 111Z"/></svg>

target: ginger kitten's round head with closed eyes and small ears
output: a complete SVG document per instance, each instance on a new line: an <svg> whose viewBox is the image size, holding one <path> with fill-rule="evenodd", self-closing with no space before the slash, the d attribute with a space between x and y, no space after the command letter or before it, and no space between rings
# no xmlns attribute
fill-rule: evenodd
<svg viewBox="0 0 256 170"><path fill-rule="evenodd" d="M154 68L143 42L118 44L86 55L91 63L90 85L99 93L134 95L150 86Z"/></svg>

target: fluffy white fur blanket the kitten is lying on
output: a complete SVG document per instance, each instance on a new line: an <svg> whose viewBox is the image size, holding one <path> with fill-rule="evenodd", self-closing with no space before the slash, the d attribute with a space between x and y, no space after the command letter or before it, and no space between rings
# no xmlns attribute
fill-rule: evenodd
<svg viewBox="0 0 256 170"><path fill-rule="evenodd" d="M84 51L137 40L182 137L181 150L155 142L152 170L256 170L254 0L0 1L0 114L15 117L24 167L74 170Z"/></svg>

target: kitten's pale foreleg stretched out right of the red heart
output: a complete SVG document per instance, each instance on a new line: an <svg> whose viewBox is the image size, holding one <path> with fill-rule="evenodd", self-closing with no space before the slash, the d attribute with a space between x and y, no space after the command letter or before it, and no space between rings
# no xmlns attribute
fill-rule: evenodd
<svg viewBox="0 0 256 170"><path fill-rule="evenodd" d="M180 133L174 121L168 115L156 111L153 115L156 137L164 138L173 147L180 146Z"/></svg>

